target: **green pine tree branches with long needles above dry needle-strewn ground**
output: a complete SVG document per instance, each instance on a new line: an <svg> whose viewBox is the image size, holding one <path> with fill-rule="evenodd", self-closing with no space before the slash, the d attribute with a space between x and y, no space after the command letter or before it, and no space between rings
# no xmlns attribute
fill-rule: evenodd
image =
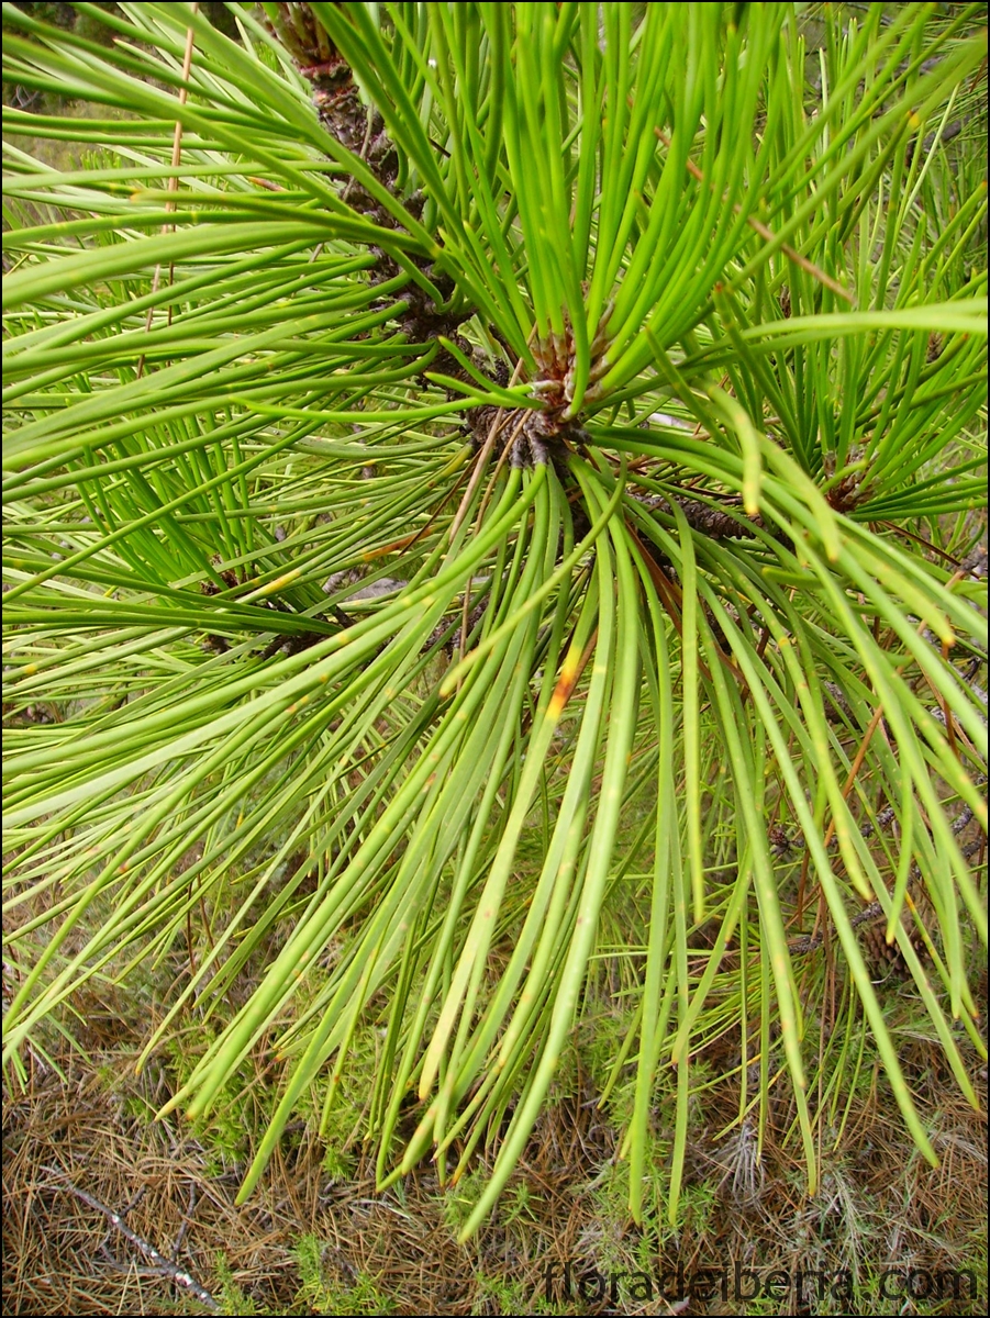
<svg viewBox="0 0 990 1318"><path fill-rule="evenodd" d="M5 116L88 146L5 148L8 1065L175 966L247 1194L372 1025L471 1232L610 988L634 1215L726 1033L812 1186L863 1021L933 1159L863 931L975 1102L982 7L227 8L4 7L103 107Z"/></svg>

